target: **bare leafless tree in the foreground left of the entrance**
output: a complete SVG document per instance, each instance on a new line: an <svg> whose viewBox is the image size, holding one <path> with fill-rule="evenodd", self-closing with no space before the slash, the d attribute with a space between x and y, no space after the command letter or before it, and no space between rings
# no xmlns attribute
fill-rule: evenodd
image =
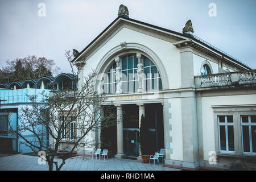
<svg viewBox="0 0 256 182"><path fill-rule="evenodd" d="M70 51L66 56L71 63ZM71 63L73 67L73 64ZM72 68L73 73L75 69ZM75 86L67 90L55 90L50 94L42 93L42 97L28 96L31 105L22 107L19 115L18 136L24 140L26 146L38 154L46 152L46 162L49 170L60 170L65 160L77 148L96 143L88 135L104 127L113 126L117 123L115 113L102 112L102 105L106 104L106 97L95 89L96 73L92 71L84 78L84 84L77 89ZM73 85L76 85L77 77L74 77ZM42 100L39 102L39 100ZM40 104L44 103L44 104ZM105 106L108 107L108 106ZM108 111L108 109L104 109ZM34 137L23 137L24 131L30 131ZM49 141L46 136L49 135ZM68 154L64 155L59 164L55 159L63 146L63 140L68 139Z"/></svg>

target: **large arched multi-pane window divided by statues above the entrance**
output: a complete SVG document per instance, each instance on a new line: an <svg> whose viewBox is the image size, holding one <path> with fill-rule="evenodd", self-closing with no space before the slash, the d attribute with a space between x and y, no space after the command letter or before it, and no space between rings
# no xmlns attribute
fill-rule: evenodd
<svg viewBox="0 0 256 182"><path fill-rule="evenodd" d="M138 80L138 58L136 53L129 53L120 57L120 69L122 77L122 93L135 93L139 89ZM114 62L104 78L104 84L102 86L103 92L108 94L114 94L117 90L117 81L115 80L115 68L117 67ZM143 73L142 76L144 82L144 90L162 90L162 80L158 69L155 64L143 56Z"/></svg>

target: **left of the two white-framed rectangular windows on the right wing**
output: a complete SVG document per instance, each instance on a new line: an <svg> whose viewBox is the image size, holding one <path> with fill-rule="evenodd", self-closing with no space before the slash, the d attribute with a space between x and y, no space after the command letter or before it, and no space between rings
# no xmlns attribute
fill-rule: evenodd
<svg viewBox="0 0 256 182"><path fill-rule="evenodd" d="M233 115L218 115L219 150L223 153L234 153Z"/></svg>

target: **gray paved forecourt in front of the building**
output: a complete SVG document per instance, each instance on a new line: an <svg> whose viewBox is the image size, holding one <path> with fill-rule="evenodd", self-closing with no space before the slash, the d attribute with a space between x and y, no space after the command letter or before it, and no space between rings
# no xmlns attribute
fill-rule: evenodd
<svg viewBox="0 0 256 182"><path fill-rule="evenodd" d="M61 159L56 158L60 164ZM12 155L0 158L0 171L47 171L48 165L38 164L37 156ZM164 167L163 164L144 164L131 159L110 158L96 160L77 156L65 161L61 171L178 171L179 169Z"/></svg>

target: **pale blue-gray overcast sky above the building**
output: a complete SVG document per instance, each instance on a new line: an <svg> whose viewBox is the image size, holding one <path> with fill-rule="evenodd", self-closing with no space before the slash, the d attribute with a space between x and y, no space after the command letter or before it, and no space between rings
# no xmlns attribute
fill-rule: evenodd
<svg viewBox="0 0 256 182"><path fill-rule="evenodd" d="M38 16L39 3L46 16ZM210 3L216 17L208 14ZM71 72L65 50L84 49L117 18L121 4L130 18L177 32L191 19L195 35L256 69L255 0L0 0L0 68L6 60L35 55Z"/></svg>

